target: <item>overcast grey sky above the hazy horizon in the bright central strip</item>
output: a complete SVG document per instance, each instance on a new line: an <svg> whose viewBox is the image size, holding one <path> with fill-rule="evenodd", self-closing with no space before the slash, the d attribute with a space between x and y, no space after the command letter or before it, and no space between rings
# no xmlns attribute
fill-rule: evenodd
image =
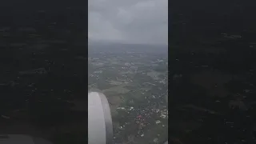
<svg viewBox="0 0 256 144"><path fill-rule="evenodd" d="M88 3L91 41L168 43L168 0L89 0Z"/></svg>

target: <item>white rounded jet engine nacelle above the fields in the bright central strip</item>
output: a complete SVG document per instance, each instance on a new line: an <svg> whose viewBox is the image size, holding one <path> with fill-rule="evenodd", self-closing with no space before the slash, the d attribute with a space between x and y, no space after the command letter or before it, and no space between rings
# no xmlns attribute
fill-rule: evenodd
<svg viewBox="0 0 256 144"><path fill-rule="evenodd" d="M88 93L88 144L113 144L110 106L100 92Z"/></svg>

